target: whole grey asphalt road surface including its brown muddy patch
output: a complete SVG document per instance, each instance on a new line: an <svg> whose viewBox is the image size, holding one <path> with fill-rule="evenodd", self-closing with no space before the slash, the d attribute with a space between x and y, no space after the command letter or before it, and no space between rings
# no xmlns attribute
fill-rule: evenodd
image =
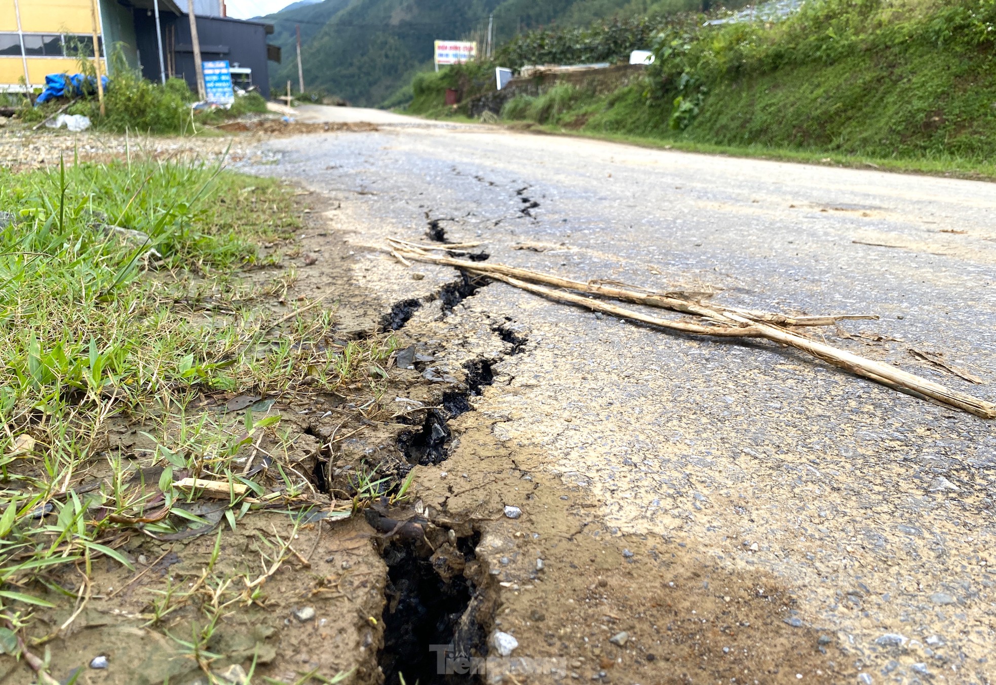
<svg viewBox="0 0 996 685"><path fill-rule="evenodd" d="M965 388L908 348L996 377L996 188L484 127L266 147L279 161L254 171L337 207L305 244L354 253L299 288L349 269L385 328L435 350L419 370L439 408L397 448L421 464L416 507L477 536L472 563L495 581L475 614L488 680L993 677L990 424L772 344L637 328L379 246L428 230L574 278L871 312L834 342ZM373 194L331 190L351 187Z"/></svg>

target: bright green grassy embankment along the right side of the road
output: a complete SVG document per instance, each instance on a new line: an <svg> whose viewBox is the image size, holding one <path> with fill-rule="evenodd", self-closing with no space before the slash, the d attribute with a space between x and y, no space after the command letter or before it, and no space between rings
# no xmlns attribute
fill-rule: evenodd
<svg viewBox="0 0 996 685"><path fill-rule="evenodd" d="M504 50L530 62L529 46L539 54L584 45L555 38L523 36ZM996 0L810 0L781 21L723 26L685 16L657 32L655 51L644 76L615 92L556 84L515 97L501 115L684 145L912 159L952 171L990 168L996 159ZM460 72L473 69L420 77L412 109L445 113L447 83L476 83L461 82Z"/></svg>

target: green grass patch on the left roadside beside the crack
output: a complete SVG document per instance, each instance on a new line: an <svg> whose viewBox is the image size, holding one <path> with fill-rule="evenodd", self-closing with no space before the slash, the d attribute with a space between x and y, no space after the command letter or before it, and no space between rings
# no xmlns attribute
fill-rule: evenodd
<svg viewBox="0 0 996 685"><path fill-rule="evenodd" d="M168 535L200 521L178 506L200 486L178 489L180 476L223 484L233 528L258 506L247 500L291 503L309 491L279 459L276 481L237 473L244 448L278 430L269 409L244 421L198 410L236 391L279 397L361 382L375 392L386 375L377 369L392 338L333 344L323 341L329 310L275 311L292 270L240 277L279 262L260 243L293 251L300 226L277 182L205 164L0 171L0 643L9 653L26 649L18 639L32 611L51 605L45 597L69 592L58 571L86 578L98 557L128 565L123 546L139 529ZM125 425L153 441L135 463L109 447L110 429Z"/></svg>

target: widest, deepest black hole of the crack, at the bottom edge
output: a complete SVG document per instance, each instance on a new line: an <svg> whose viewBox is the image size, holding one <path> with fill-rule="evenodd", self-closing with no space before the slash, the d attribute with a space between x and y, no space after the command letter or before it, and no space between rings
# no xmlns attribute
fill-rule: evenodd
<svg viewBox="0 0 996 685"><path fill-rule="evenodd" d="M385 685L400 685L402 677L409 685L477 680L463 660L486 656L486 633L478 622L483 596L464 571L475 561L480 536L446 534L434 550L424 540L395 539L381 551L387 582L377 662ZM438 668L444 659L451 673Z"/></svg>

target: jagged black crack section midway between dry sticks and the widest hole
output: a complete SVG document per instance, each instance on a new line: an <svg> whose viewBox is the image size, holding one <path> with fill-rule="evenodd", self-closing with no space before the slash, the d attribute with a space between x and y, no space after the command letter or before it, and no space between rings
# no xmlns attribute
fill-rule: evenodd
<svg viewBox="0 0 996 685"><path fill-rule="evenodd" d="M449 456L449 442L453 438L449 426L451 420L471 411L470 396L479 396L481 388L494 382L494 372L490 359L471 359L463 364L467 372L467 389L459 392L445 392L440 400L440 408L431 408L425 413L425 420L417 431L402 432L397 438L397 448L404 454L409 464L438 464Z"/></svg>

